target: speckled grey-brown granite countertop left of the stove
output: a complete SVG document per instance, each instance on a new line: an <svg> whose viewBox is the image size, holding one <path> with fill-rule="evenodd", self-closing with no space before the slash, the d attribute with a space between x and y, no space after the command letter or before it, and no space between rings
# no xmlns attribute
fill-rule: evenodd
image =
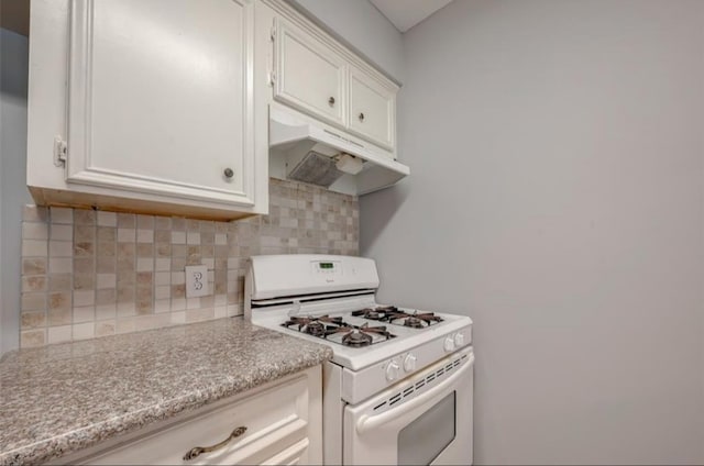
<svg viewBox="0 0 704 466"><path fill-rule="evenodd" d="M0 465L51 461L331 357L242 318L14 351L0 359Z"/></svg>

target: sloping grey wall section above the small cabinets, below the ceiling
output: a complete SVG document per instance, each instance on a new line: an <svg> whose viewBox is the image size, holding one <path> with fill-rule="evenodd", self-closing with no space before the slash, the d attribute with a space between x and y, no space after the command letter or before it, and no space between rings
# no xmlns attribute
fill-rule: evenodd
<svg viewBox="0 0 704 466"><path fill-rule="evenodd" d="M402 34L367 0L292 0L398 82L404 80Z"/></svg>

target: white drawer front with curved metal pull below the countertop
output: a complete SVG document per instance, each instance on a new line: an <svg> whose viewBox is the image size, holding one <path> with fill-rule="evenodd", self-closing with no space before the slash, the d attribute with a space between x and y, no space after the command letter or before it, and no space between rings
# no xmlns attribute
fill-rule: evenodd
<svg viewBox="0 0 704 466"><path fill-rule="evenodd" d="M307 378L301 376L79 462L98 465L295 462L306 453L308 445L308 395ZM193 447L216 445L240 426L246 431L227 445L184 461L184 455ZM296 448L296 445L305 447Z"/></svg>

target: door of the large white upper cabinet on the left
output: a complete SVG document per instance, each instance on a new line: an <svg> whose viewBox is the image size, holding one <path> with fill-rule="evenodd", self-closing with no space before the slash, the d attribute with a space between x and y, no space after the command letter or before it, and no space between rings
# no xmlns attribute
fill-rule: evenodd
<svg viewBox="0 0 704 466"><path fill-rule="evenodd" d="M251 2L70 7L67 184L253 206Z"/></svg>

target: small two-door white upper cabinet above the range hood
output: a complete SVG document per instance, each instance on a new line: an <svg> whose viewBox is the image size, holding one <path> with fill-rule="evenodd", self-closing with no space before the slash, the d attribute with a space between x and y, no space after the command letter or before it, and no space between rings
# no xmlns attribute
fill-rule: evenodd
<svg viewBox="0 0 704 466"><path fill-rule="evenodd" d="M274 101L370 142L395 158L398 86L277 0L272 27Z"/></svg>

